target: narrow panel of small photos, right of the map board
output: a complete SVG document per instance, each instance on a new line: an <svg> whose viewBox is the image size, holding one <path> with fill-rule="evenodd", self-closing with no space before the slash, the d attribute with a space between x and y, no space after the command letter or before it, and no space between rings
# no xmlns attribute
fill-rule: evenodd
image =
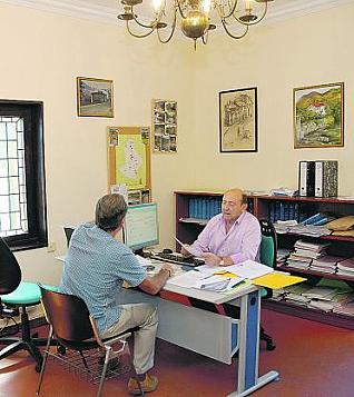
<svg viewBox="0 0 354 397"><path fill-rule="evenodd" d="M177 101L153 99L153 151L177 152Z"/></svg>

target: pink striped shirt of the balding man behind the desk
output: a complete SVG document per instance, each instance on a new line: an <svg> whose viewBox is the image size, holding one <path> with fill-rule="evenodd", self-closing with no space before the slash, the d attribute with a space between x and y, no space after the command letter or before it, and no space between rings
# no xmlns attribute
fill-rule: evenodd
<svg viewBox="0 0 354 397"><path fill-rule="evenodd" d="M228 234L225 230L223 214L213 217L193 247L218 257L230 257L234 264L259 258L260 226L258 219L244 211L234 222Z"/></svg>

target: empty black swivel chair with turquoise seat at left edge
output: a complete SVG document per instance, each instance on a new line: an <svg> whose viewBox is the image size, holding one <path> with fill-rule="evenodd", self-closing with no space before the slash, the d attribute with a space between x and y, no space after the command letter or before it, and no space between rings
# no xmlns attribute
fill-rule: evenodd
<svg viewBox="0 0 354 397"><path fill-rule="evenodd" d="M53 287L55 288L55 287ZM36 370L40 370L42 355L38 346L46 346L47 339L31 336L27 307L40 302L40 289L35 282L21 281L20 266L7 246L0 238L0 318L11 318L20 312L21 337L1 337L0 345L7 347L0 350L0 359L19 350L27 350L36 360Z"/></svg>

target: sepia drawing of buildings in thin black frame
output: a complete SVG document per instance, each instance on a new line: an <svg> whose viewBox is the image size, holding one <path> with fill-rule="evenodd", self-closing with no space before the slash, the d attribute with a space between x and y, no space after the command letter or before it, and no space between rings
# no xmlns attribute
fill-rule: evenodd
<svg viewBox="0 0 354 397"><path fill-rule="evenodd" d="M219 92L220 152L257 151L257 88Z"/></svg>

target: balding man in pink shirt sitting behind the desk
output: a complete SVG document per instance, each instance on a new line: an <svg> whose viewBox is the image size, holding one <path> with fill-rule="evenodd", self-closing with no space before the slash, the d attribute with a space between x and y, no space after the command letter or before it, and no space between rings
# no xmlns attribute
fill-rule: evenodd
<svg viewBox="0 0 354 397"><path fill-rule="evenodd" d="M247 259L258 260L262 240L258 219L246 211L247 196L240 189L227 190L223 196L222 214L213 217L191 247L201 251L206 265L230 266ZM185 256L188 252L181 248ZM215 311L212 304L194 300L195 306ZM232 317L237 310L224 305Z"/></svg>

